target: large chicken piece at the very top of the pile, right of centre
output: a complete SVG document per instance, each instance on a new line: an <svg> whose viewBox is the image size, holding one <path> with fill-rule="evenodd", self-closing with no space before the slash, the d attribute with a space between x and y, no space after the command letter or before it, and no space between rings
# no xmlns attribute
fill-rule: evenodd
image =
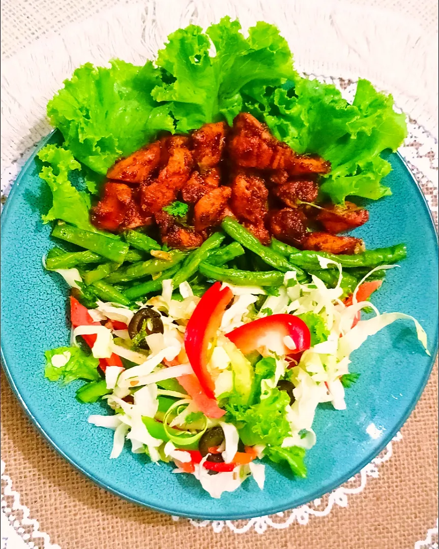
<svg viewBox="0 0 439 549"><path fill-rule="evenodd" d="M260 170L288 169L296 156L286 143L273 137L268 128L249 113L235 117L229 154L238 166Z"/></svg>

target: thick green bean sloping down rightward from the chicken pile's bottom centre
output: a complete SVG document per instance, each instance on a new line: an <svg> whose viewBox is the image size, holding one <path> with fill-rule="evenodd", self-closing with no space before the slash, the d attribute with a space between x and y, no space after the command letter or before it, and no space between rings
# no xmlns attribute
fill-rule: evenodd
<svg viewBox="0 0 439 549"><path fill-rule="evenodd" d="M223 223L221 223L221 227L231 238L242 244L244 248L253 251L253 253L257 254L265 263L271 265L271 267L282 272L295 271L299 282L306 277L301 268L288 262L285 257L277 251L261 244L253 234L249 233L247 229L231 217L226 217Z"/></svg>

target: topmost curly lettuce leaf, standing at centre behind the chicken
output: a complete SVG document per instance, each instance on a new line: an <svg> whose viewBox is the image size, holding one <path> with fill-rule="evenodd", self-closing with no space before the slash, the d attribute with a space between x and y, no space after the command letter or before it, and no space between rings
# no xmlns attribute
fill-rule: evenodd
<svg viewBox="0 0 439 549"><path fill-rule="evenodd" d="M173 32L156 63L162 81L152 96L166 102L160 109L175 120L179 132L223 116L232 124L242 110L244 87L259 80L279 86L296 74L290 48L275 26L259 22L246 38L240 23L228 16L205 33L196 25Z"/></svg>

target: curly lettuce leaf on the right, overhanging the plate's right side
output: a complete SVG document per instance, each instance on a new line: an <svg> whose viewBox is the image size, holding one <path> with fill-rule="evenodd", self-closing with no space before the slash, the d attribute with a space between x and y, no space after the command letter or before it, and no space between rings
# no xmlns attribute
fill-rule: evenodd
<svg viewBox="0 0 439 549"><path fill-rule="evenodd" d="M391 166L380 155L396 150L407 136L405 115L369 81L358 81L352 105L334 85L317 80L297 77L291 87L264 84L249 91L243 110L265 121L296 152L330 161L320 189L334 203L349 195L377 200L391 194L381 183Z"/></svg>

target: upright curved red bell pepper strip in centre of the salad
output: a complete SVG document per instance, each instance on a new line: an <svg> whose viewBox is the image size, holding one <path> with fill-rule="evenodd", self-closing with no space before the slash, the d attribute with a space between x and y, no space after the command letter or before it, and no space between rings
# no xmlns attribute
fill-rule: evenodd
<svg viewBox="0 0 439 549"><path fill-rule="evenodd" d="M209 343L216 338L224 311L232 298L229 287L221 290L221 282L215 282L198 302L186 326L186 354L204 393L210 399L215 399L215 382L207 369Z"/></svg>

